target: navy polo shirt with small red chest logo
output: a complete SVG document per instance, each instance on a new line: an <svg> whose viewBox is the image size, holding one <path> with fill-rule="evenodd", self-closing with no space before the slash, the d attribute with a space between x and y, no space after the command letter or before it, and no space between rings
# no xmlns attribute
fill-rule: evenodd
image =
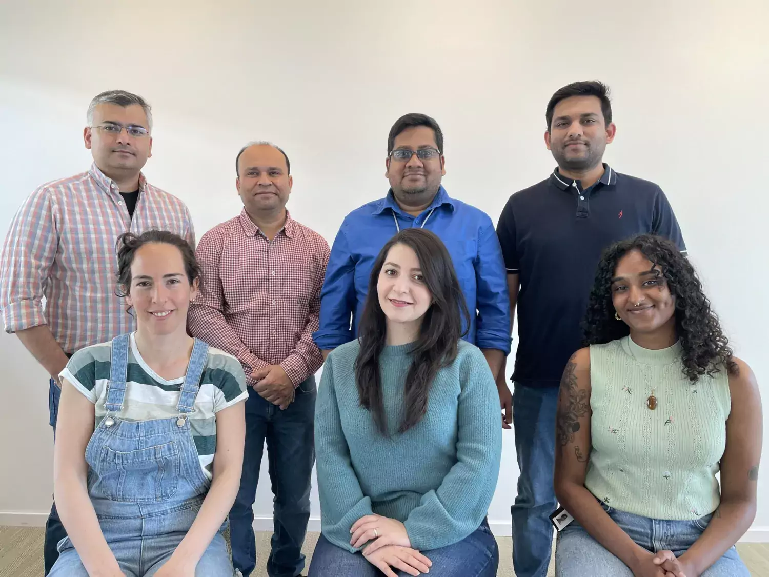
<svg viewBox="0 0 769 577"><path fill-rule="evenodd" d="M638 234L670 238L686 252L681 228L661 188L604 164L587 190L550 178L516 192L497 225L508 275L518 274L518 352L512 380L557 386L566 362L581 347L601 252Z"/></svg>

